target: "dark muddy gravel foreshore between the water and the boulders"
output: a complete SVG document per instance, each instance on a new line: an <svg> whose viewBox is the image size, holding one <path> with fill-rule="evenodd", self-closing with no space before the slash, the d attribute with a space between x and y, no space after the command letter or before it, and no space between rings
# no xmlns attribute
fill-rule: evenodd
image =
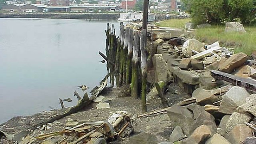
<svg viewBox="0 0 256 144"><path fill-rule="evenodd" d="M176 92L174 92L176 91ZM107 120L110 112L122 110L126 111L128 114L142 114L140 100L134 100L132 97L119 98L118 94L121 92L121 88L106 88L101 95L108 98L110 104L109 109L97 110L95 102L87 106L85 110L81 110L75 114L71 114L65 118L62 118L60 124L48 124L50 127L43 133L61 131L66 128L65 124L68 118L73 120L84 120L84 121L101 121ZM176 104L190 96L183 92L183 90L175 84L170 84L168 86L168 91L165 94L169 106ZM162 109L162 103L159 97L151 99L147 102L147 111L151 112L154 110ZM39 114L34 114L33 116L17 116L9 120L8 122L1 124L0 129L8 134L15 134L21 132L22 130L27 130L34 124L43 122L44 120L62 114L67 109L52 110L50 112L41 112ZM42 128L34 130L31 132L33 135L42 134ZM171 126L169 117L166 113L155 114L148 116L146 118L137 118L136 125L134 126L133 135L139 134L141 132L149 132L157 137L158 142L166 141L173 128ZM123 140L116 140L110 142L112 144L126 144L129 138L124 138Z"/></svg>

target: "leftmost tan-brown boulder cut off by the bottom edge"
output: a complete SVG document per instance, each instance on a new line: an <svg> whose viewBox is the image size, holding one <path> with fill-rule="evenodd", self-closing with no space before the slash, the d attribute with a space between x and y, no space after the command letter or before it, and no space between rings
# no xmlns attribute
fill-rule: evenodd
<svg viewBox="0 0 256 144"><path fill-rule="evenodd" d="M213 134L211 128L201 125L182 144L204 144Z"/></svg>

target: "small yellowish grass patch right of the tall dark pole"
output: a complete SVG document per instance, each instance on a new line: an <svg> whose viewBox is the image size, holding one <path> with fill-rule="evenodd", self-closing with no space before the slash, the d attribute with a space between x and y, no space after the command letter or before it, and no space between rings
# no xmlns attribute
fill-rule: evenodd
<svg viewBox="0 0 256 144"><path fill-rule="evenodd" d="M160 26L163 27L173 27L173 28L185 28L186 22L190 22L191 19L170 19L163 20L159 23Z"/></svg>

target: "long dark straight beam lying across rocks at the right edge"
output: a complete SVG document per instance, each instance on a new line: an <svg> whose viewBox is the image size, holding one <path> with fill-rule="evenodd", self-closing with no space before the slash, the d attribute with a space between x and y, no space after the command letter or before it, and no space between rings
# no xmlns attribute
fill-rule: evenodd
<svg viewBox="0 0 256 144"><path fill-rule="evenodd" d="M216 79L225 80L226 82L230 82L236 86L241 86L243 88L256 92L256 80L252 80L249 78L240 78L238 76L228 74L226 72L220 72L218 70L212 70L211 75Z"/></svg>

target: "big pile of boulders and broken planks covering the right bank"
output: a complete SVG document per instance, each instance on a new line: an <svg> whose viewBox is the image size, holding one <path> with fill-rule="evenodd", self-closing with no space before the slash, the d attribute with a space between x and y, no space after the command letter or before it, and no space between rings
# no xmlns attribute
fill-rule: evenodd
<svg viewBox="0 0 256 144"><path fill-rule="evenodd" d="M175 144L247 144L256 131L256 61L233 54L218 42L196 39L157 44L156 55L167 63L167 73L192 98L168 108ZM160 41L160 40L157 40ZM165 47L165 48L164 48ZM165 72L164 72L165 73Z"/></svg>

